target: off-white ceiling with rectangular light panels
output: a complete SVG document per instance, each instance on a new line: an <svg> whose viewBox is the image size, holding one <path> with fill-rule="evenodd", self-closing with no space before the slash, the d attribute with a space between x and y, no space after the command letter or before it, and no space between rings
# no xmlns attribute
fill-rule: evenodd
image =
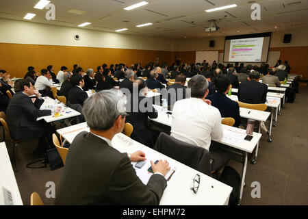
<svg viewBox="0 0 308 219"><path fill-rule="evenodd" d="M131 11L123 8L142 0L51 0L55 5L55 21L47 21L47 10L34 9L39 0L1 0L0 18L23 20L28 12L36 14L29 22L77 27L92 23L84 29L112 31L128 28L121 34L185 39L209 37L205 27L216 19L219 32L210 36L252 34L308 27L308 0L144 0L149 2ZM261 21L251 20L251 5L261 5ZM296 3L298 2L298 3ZM236 3L237 8L207 13L205 10ZM81 10L72 14L68 10ZM153 23L148 27L136 27ZM277 27L276 29L274 27Z"/></svg>

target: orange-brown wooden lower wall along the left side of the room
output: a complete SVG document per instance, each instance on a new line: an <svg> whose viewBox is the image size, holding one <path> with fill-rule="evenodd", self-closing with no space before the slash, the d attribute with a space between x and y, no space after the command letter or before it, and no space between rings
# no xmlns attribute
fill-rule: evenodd
<svg viewBox="0 0 308 219"><path fill-rule="evenodd" d="M174 59L170 51L148 51L135 49L107 49L93 47L64 47L36 44L10 44L0 43L0 69L5 69L12 77L23 77L28 66L34 66L40 72L42 68L53 65L55 73L61 66L70 70L73 64L80 64L84 71L87 68L97 69L102 64L116 64L119 62L127 65L141 62L159 64L167 62L169 65Z"/></svg>

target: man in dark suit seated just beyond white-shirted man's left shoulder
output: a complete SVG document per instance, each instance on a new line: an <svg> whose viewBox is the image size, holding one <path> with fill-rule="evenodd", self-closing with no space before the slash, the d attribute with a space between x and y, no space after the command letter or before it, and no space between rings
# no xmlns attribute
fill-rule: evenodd
<svg viewBox="0 0 308 219"><path fill-rule="evenodd" d="M175 77L175 83L166 88L168 106L175 105L176 101L188 98L187 87L185 86L186 76L181 74Z"/></svg>

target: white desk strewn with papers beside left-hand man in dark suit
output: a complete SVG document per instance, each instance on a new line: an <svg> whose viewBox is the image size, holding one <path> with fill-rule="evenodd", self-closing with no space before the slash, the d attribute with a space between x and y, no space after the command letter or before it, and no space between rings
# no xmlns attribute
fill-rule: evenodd
<svg viewBox="0 0 308 219"><path fill-rule="evenodd" d="M49 96L44 96L42 97L42 99L44 99L44 103L41 105L40 109L43 109L44 106L47 105L55 105L55 104L59 104L60 102L54 99L51 99ZM62 111L60 112L59 117L55 118L54 116L50 115L50 116L41 116L38 117L36 120L41 120L44 119L46 121L46 123L51 123L51 122L55 122L57 120L64 120L66 118L71 118L74 116L79 116L80 113L77 112L76 110L70 109L70 107L64 107L62 109Z"/></svg>

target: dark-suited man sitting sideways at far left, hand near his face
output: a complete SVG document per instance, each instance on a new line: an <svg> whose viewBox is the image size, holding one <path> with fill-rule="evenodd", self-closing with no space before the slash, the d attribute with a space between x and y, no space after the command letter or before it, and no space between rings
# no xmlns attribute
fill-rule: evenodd
<svg viewBox="0 0 308 219"><path fill-rule="evenodd" d="M10 128L10 136L13 140L31 140L39 138L39 146L37 152L42 152L52 146L51 133L55 129L51 125L44 123L42 120L36 119L40 116L51 115L51 110L40 110L40 106L44 103L40 99L38 90L34 90L31 82L27 79L17 80L15 83L16 94L12 97L8 110L6 112L6 120ZM33 103L29 96L36 94L36 101ZM60 111L60 107L55 110ZM48 142L45 141L44 135Z"/></svg>

